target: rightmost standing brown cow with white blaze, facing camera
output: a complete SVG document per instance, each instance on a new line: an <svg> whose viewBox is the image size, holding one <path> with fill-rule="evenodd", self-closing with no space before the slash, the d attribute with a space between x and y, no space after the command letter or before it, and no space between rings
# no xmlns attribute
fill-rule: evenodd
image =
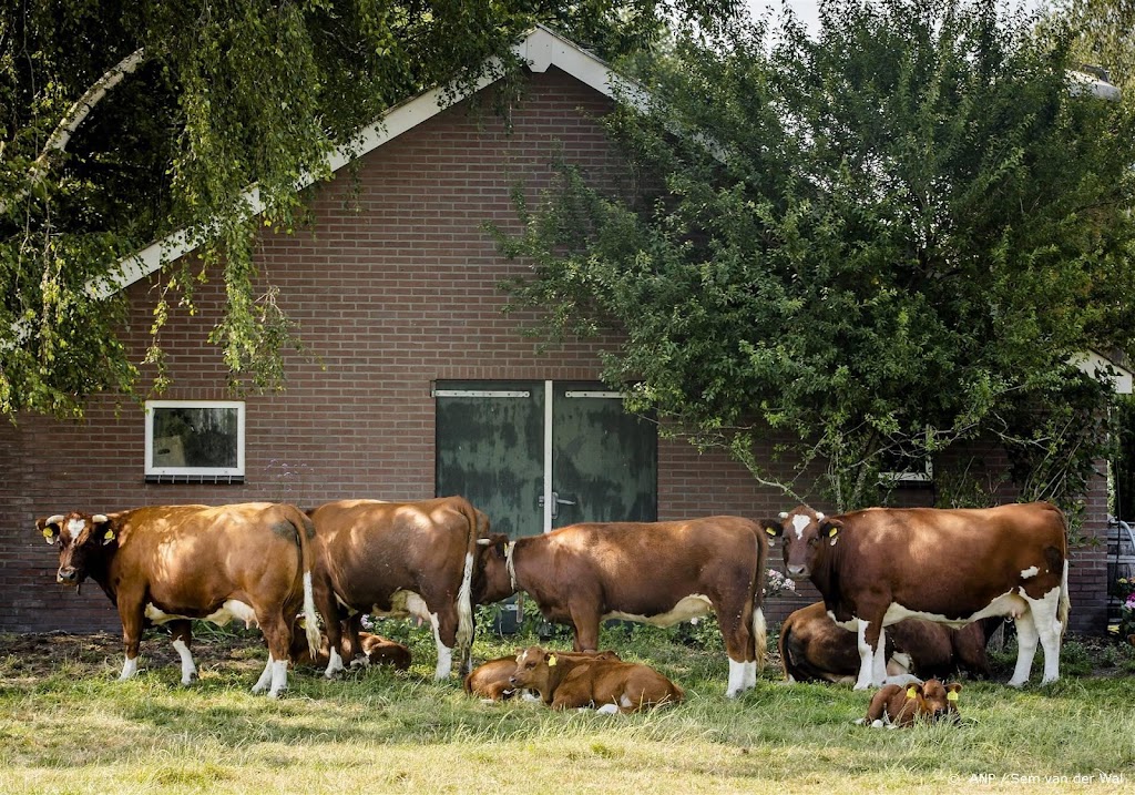
<svg viewBox="0 0 1135 795"><path fill-rule="evenodd" d="M1054 505L871 508L838 517L800 505L765 528L783 537L785 572L810 579L832 619L858 633L857 689L882 684L883 627L907 618L960 627L1011 617L1019 651L1009 684L1028 680L1037 641L1042 681L1059 678L1068 543Z"/></svg>

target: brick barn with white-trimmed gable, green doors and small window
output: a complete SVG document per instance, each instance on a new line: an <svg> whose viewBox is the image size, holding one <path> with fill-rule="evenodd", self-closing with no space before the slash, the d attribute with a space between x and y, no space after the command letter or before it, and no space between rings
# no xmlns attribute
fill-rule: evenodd
<svg viewBox="0 0 1135 795"><path fill-rule="evenodd" d="M306 346L287 359L285 392L234 401L226 390L207 341L224 306L213 281L199 288L197 315L174 313L162 332L174 379L166 402L146 411L98 395L83 421L24 416L0 426L0 631L118 628L93 583L79 595L56 585L57 555L34 532L35 517L72 509L252 500L310 508L461 492L516 535L585 519L759 520L791 507L725 455L659 440L649 422L623 415L596 383L598 353L614 341L540 352L518 333L523 317L502 315L499 285L524 266L502 258L484 225L516 227L511 192L522 185L535 196L556 158L613 183L622 174L596 123L612 107L614 76L544 30L522 48L531 69L507 125L489 101L417 98L369 132L353 168L308 189L310 228L263 233L261 273ZM486 81L479 99L491 91ZM143 252L121 285L138 359L155 252L170 244ZM184 449L178 424L196 424L197 437L211 434L222 450ZM910 493L911 502L928 499ZM1103 537L1105 512L1099 478L1086 535ZM1102 631L1104 579L1103 547L1078 550L1074 629ZM773 600L770 619L813 597L805 588Z"/></svg>

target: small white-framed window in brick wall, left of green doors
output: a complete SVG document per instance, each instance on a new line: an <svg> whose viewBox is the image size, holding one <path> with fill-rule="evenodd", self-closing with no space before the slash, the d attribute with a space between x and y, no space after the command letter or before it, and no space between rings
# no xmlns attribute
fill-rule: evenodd
<svg viewBox="0 0 1135 795"><path fill-rule="evenodd" d="M145 476L151 482L244 478L244 402L148 400Z"/></svg>

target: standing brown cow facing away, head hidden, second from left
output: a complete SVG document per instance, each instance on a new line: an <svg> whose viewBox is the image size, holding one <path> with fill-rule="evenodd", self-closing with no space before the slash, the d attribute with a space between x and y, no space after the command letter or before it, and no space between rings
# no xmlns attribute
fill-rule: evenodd
<svg viewBox="0 0 1135 795"><path fill-rule="evenodd" d="M479 518L460 496L421 502L342 500L309 512L319 551L316 603L325 617L345 613L351 658L362 654L362 617L411 616L428 622L437 644L435 676L444 679L459 648L461 670L471 668L473 611L470 601ZM344 669L342 627L326 626L330 660L326 676Z"/></svg>

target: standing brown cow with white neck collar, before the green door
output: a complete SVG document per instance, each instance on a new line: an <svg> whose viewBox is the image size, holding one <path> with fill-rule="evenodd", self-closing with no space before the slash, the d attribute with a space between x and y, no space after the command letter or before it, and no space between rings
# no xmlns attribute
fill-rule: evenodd
<svg viewBox="0 0 1135 795"><path fill-rule="evenodd" d="M733 697L757 681L765 655L760 609L768 544L740 517L561 527L482 542L478 603L527 592L549 621L570 624L575 651L595 651L605 619L669 627L713 611L729 654Z"/></svg>

